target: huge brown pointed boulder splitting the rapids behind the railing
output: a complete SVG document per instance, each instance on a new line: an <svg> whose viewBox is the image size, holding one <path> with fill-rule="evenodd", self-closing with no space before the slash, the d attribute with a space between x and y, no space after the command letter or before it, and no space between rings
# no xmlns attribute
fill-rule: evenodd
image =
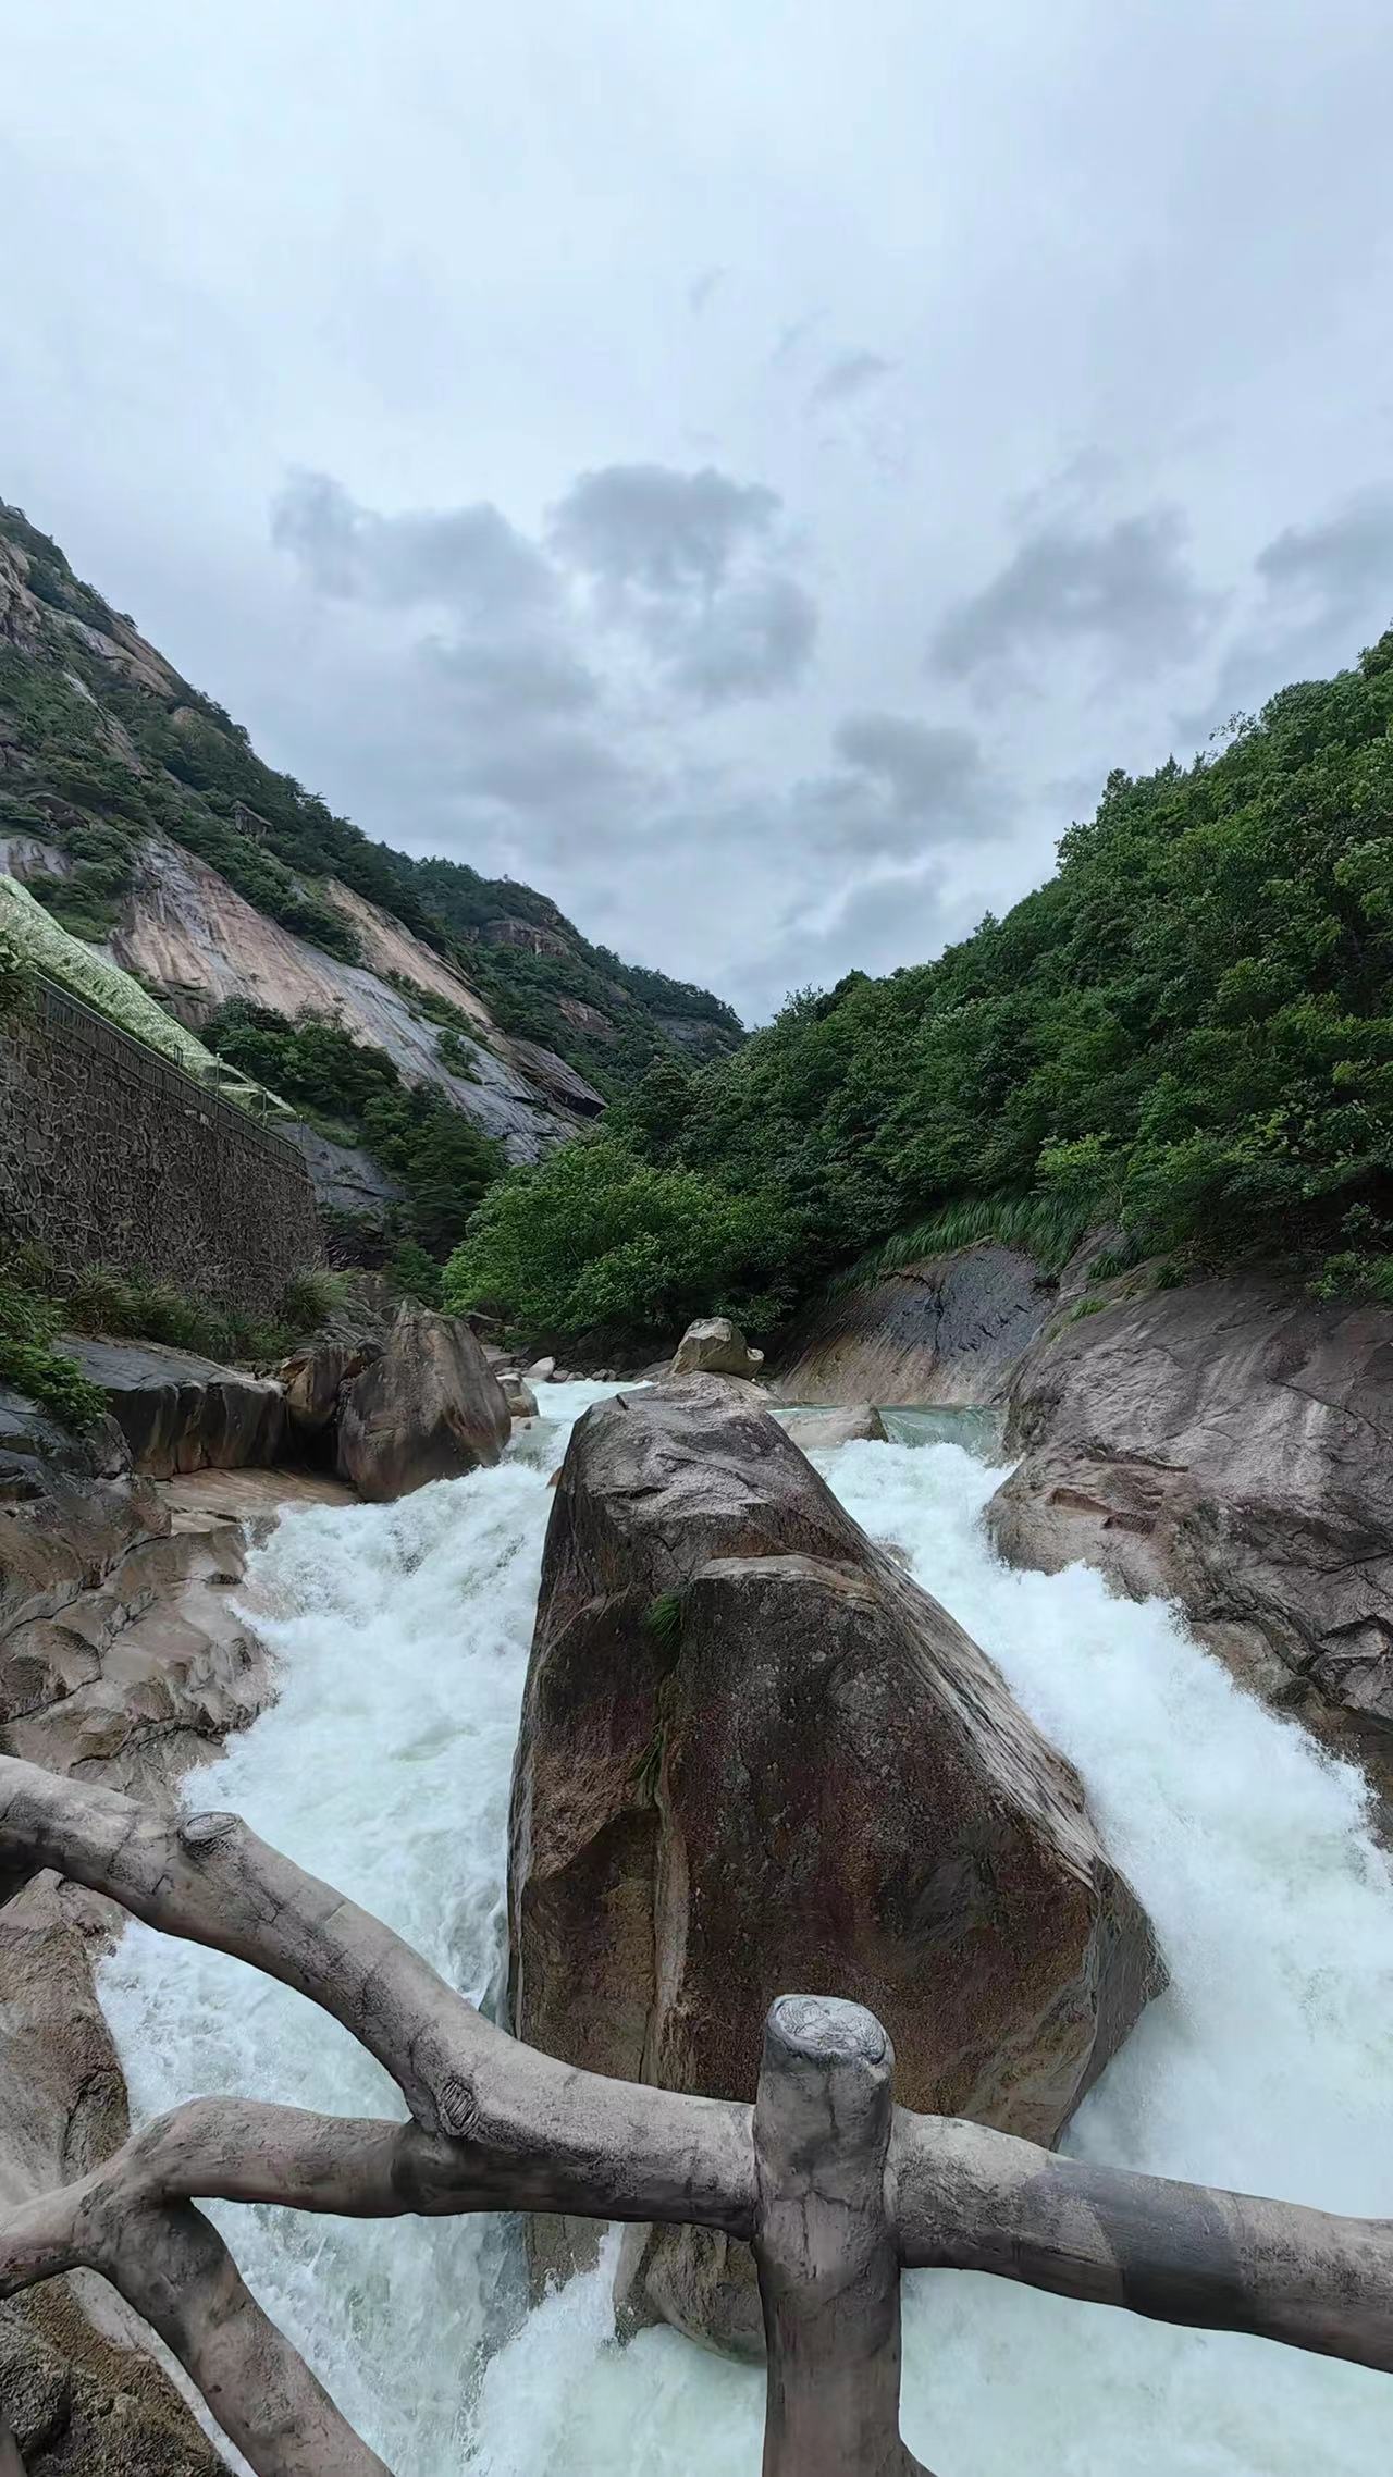
<svg viewBox="0 0 1393 2477"><path fill-rule="evenodd" d="M754 2098L778 1992L870 2006L905 2105L1053 2143L1160 1962L1083 1788L959 1625L754 1392L578 1424L548 1528L511 1816L521 2039ZM538 2274L587 2259L530 2222ZM662 2229L625 2301L756 2353L749 2259Z"/></svg>

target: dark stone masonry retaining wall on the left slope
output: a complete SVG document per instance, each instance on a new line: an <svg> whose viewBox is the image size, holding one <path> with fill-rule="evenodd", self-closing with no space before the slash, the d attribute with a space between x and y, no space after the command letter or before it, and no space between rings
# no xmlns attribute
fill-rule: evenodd
<svg viewBox="0 0 1393 2477"><path fill-rule="evenodd" d="M47 981L0 1021L0 1229L243 1313L320 1261L295 1144Z"/></svg>

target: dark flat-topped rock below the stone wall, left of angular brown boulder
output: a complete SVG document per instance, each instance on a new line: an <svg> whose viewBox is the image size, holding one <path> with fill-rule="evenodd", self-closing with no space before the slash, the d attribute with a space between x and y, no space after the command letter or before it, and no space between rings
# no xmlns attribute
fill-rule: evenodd
<svg viewBox="0 0 1393 2477"><path fill-rule="evenodd" d="M77 1333L64 1335L62 1350L102 1387L136 1471L149 1479L268 1464L285 1449L285 1402L270 1377L166 1343Z"/></svg>

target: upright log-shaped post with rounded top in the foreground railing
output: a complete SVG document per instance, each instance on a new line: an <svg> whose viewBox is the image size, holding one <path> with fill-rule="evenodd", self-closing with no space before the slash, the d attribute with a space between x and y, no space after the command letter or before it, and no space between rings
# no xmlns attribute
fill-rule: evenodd
<svg viewBox="0 0 1393 2477"><path fill-rule="evenodd" d="M927 2477L900 2440L892 2076L890 2039L860 2004L768 2009L754 2110L763 2477Z"/></svg>

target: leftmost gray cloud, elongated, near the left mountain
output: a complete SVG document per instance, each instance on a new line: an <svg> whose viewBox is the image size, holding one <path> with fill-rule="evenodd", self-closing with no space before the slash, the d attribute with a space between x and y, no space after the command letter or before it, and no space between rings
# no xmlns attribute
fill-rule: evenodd
<svg viewBox="0 0 1393 2477"><path fill-rule="evenodd" d="M359 508L330 473L292 473L275 495L270 538L322 594L387 609L444 604L476 619L540 609L553 597L548 562L498 508Z"/></svg>

